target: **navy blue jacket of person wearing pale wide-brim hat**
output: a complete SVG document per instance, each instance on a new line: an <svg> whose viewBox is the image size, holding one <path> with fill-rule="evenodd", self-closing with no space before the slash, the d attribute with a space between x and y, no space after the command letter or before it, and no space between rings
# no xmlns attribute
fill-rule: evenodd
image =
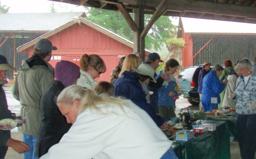
<svg viewBox="0 0 256 159"><path fill-rule="evenodd" d="M122 96L130 99L133 103L145 110L154 120L158 127L162 126L164 119L154 112L154 109L146 101L146 94L142 89L141 83L136 73L124 71L122 77L119 77L113 83L114 96Z"/></svg>

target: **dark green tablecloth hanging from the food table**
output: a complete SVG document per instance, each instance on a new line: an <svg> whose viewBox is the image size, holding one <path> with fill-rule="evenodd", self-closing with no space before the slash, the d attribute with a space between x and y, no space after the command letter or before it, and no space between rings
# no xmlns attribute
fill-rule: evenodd
<svg viewBox="0 0 256 159"><path fill-rule="evenodd" d="M215 131L196 135L194 139L175 147L174 151L179 159L230 159L230 131L227 122L210 122L216 125Z"/></svg>

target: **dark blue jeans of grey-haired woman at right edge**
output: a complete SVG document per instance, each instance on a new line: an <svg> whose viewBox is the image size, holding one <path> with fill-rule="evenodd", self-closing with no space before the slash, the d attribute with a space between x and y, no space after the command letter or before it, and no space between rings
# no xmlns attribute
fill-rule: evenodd
<svg viewBox="0 0 256 159"><path fill-rule="evenodd" d="M242 159L254 159L256 151L256 114L237 114L237 136Z"/></svg>

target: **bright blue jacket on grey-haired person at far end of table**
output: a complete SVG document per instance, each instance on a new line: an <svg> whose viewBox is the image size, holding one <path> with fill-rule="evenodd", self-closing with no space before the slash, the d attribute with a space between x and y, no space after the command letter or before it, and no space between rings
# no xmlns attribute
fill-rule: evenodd
<svg viewBox="0 0 256 159"><path fill-rule="evenodd" d="M224 90L225 84L221 83L219 78L216 75L216 72L211 70L203 78L203 90L202 90L202 99L203 103L211 103L211 98L218 98L218 103L221 102L220 93Z"/></svg>

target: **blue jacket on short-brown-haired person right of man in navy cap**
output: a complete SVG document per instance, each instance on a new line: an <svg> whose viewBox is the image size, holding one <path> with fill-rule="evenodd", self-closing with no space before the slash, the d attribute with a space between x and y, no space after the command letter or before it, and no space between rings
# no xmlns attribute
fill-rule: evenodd
<svg viewBox="0 0 256 159"><path fill-rule="evenodd" d="M159 78L161 74L165 74L164 71L161 71L156 78ZM169 96L169 92L174 91L176 86L176 81L167 82L166 79L163 82L163 85L158 90L158 105L163 107L174 107L174 96ZM177 92L174 91L177 95Z"/></svg>

